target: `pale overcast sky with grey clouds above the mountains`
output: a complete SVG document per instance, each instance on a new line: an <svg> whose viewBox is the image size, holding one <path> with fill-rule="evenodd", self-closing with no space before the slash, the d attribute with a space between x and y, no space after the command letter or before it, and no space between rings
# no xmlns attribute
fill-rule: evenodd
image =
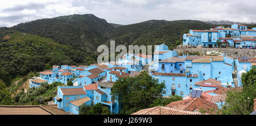
<svg viewBox="0 0 256 126"><path fill-rule="evenodd" d="M255 0L8 0L0 4L0 26L35 19L94 14L109 23L146 20L229 20L256 22Z"/></svg>

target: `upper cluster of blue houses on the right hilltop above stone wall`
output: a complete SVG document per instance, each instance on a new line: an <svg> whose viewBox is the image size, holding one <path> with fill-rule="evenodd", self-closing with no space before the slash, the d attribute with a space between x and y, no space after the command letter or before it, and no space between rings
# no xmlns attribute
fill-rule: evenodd
<svg viewBox="0 0 256 126"><path fill-rule="evenodd" d="M189 29L183 34L183 45L202 45L203 47L232 47L238 49L255 49L256 27L232 24L231 28L218 26L210 30Z"/></svg>

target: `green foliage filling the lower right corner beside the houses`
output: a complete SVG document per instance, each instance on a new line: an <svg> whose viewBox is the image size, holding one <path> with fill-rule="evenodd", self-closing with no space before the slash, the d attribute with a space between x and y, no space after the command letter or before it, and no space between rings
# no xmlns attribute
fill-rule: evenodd
<svg viewBox="0 0 256 126"><path fill-rule="evenodd" d="M222 107L222 114L247 115L253 112L256 98L256 68L242 74L242 90L231 90L227 93L226 103Z"/></svg>

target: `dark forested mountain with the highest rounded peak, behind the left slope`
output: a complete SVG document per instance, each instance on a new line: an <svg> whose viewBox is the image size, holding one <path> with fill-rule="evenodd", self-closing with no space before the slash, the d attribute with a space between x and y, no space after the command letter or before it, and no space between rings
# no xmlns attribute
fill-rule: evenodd
<svg viewBox="0 0 256 126"><path fill-rule="evenodd" d="M20 23L17 31L52 38L56 42L72 45L83 51L96 50L104 40L104 34L114 29L105 19L92 14L59 16Z"/></svg>

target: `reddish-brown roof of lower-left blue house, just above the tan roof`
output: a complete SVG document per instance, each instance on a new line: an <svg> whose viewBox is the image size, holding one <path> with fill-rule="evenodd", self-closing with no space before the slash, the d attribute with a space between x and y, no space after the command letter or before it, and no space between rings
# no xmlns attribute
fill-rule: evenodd
<svg viewBox="0 0 256 126"><path fill-rule="evenodd" d="M82 88L61 88L63 95L83 95L86 94L85 90Z"/></svg>

